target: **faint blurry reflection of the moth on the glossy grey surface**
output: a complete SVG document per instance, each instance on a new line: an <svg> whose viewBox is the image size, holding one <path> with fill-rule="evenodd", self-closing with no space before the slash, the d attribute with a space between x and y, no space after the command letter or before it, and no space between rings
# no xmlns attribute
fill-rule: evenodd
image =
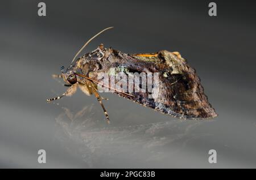
<svg viewBox="0 0 256 180"><path fill-rule="evenodd" d="M98 111L94 105L85 106L78 112L63 108L63 113L56 118L55 138L90 168L133 168L131 164L160 163L174 157L193 140L210 135L196 131L202 123L210 121L174 119L113 127L102 119L97 120Z"/></svg>

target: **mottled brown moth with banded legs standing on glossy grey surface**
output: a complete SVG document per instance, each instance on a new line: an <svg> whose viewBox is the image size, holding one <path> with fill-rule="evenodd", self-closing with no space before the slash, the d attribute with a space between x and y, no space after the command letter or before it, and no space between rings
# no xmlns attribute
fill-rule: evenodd
<svg viewBox="0 0 256 180"><path fill-rule="evenodd" d="M110 28L113 27L106 28L90 38L77 52L71 65L66 70L62 66L61 74L53 75L53 78L63 78L65 85L69 88L61 96L49 98L47 102L64 96L72 96L77 88L80 88L86 95L93 94L96 96L109 122L109 115L102 103L102 100L108 99L101 97L98 93L98 88L104 87L121 97L175 118L209 119L217 116L204 94L204 89L195 69L188 65L179 52L160 50L156 53L126 54L112 48L104 48L104 45L100 44L96 50L76 59L77 55L93 38ZM157 96L150 98L152 92L125 92L108 84L102 84L102 79L101 81L98 79L98 74L109 73L112 68L122 71L126 75L157 73ZM139 84L139 86L141 85ZM131 88L134 90L135 85Z"/></svg>

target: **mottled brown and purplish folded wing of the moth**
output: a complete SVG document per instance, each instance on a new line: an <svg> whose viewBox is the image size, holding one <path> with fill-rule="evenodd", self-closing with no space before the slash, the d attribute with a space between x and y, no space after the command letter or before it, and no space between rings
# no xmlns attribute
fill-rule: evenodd
<svg viewBox="0 0 256 180"><path fill-rule="evenodd" d="M156 98L148 98L148 92L133 92L131 95L134 97L115 93L175 118L216 117L199 77L187 61L177 52L162 50L155 54L125 54L113 50L102 65L122 69L125 73L159 72L159 93Z"/></svg>

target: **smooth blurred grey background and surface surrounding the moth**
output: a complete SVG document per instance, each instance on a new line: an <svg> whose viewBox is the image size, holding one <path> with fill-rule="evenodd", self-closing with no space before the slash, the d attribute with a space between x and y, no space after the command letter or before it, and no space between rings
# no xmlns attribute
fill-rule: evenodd
<svg viewBox="0 0 256 180"><path fill-rule="evenodd" d="M46 17L39 2L0 2L1 168L256 168L255 1L214 1L217 17L210 1L44 1ZM51 74L109 26L83 53L101 42L125 53L179 51L218 117L180 121L104 93L106 125L96 98L80 91L47 104L66 89Z"/></svg>

